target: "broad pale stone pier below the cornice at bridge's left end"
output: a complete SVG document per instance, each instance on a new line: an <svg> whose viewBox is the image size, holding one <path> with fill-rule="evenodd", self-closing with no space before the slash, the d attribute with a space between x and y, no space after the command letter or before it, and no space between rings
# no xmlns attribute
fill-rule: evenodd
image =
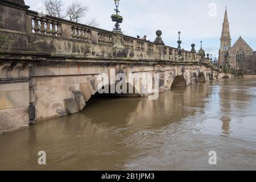
<svg viewBox="0 0 256 182"><path fill-rule="evenodd" d="M22 61L0 62L0 135L28 126L30 66Z"/></svg>

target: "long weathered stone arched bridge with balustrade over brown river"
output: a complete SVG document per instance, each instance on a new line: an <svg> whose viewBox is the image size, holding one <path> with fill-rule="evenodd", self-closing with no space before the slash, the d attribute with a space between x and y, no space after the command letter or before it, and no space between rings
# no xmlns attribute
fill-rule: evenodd
<svg viewBox="0 0 256 182"><path fill-rule="evenodd" d="M218 78L209 56L165 46L161 31L149 42L28 8L0 1L0 134L84 109L119 73L133 97Z"/></svg>

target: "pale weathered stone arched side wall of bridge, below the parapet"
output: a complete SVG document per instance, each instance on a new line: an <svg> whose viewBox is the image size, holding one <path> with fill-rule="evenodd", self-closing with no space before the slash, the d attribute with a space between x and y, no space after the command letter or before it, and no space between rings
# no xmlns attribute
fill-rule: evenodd
<svg viewBox="0 0 256 182"><path fill-rule="evenodd" d="M184 85L191 85L198 82L200 71L204 73L204 81L209 80L210 75L208 73L211 72L210 69L204 66L195 65L158 65L156 67L148 65L142 67L122 64L116 65L115 67L100 68L85 66L83 68L84 71L81 71L81 67L75 66L65 68L59 68L58 66L57 68L53 66L31 68L31 76L34 77L34 87L32 89L34 90L33 97L35 99L33 102L36 108L36 121L60 117L68 113L75 113L82 110L85 106L85 102L88 102L90 97L97 92L97 84L101 81L98 80L98 75L106 73L110 79L112 69L114 76L120 72L120 68L123 68L122 72L127 75L129 75L129 73L138 73L139 75L143 73L159 73L160 80L163 79L163 82L159 80L159 92L170 90L172 82L174 82L177 76L184 78ZM51 70L51 72L49 72L49 70ZM60 73L65 74L60 75ZM128 78L126 82L129 82ZM137 86L138 88L142 87L142 82L139 82L140 85L136 85L135 82L129 82L129 84ZM81 93L82 96L79 102L76 100L77 93ZM151 93L146 93L146 95L147 94ZM129 96L129 94L125 96ZM131 94L131 96L133 95ZM71 108L69 108L70 105Z"/></svg>

